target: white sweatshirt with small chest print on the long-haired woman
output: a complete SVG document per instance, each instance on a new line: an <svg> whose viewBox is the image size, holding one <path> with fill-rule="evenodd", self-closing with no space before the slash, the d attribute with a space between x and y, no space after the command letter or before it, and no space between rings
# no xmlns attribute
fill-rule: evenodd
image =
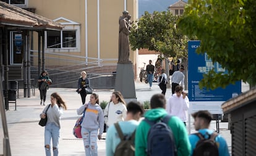
<svg viewBox="0 0 256 156"><path fill-rule="evenodd" d="M124 119L126 118L126 113L126 105L121 102L119 102L118 104L110 102L108 105L106 105L106 108L104 110L104 121L107 126L111 126L117 121L124 121Z"/></svg>

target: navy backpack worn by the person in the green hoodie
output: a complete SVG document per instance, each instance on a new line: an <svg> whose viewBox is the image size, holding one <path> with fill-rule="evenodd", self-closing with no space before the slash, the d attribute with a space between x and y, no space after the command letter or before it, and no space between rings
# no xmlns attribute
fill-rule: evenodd
<svg viewBox="0 0 256 156"><path fill-rule="evenodd" d="M168 121L171 117L171 115L166 115L166 117L161 118L159 121L144 119L151 126L148 131L147 155L177 155L173 131L168 126Z"/></svg>

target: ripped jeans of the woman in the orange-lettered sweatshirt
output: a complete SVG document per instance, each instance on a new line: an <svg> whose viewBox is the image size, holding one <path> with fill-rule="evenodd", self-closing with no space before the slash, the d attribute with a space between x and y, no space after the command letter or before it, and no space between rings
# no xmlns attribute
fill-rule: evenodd
<svg viewBox="0 0 256 156"><path fill-rule="evenodd" d="M85 147L86 156L98 156L98 129L85 129L82 127L81 134L83 138L83 146Z"/></svg>

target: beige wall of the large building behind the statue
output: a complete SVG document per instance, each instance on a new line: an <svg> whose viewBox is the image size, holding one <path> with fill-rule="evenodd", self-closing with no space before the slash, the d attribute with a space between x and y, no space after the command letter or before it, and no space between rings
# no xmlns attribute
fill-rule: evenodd
<svg viewBox="0 0 256 156"><path fill-rule="evenodd" d="M116 59L114 61L104 61L104 63L116 63L118 57L118 29L119 16L124 10L124 0L105 0L100 2L100 51L98 49L98 4L97 0L29 0L28 7L34 7L36 14L54 20L64 17L74 22L80 23L80 51L59 52L60 54L80 55L85 57L85 1L87 1L87 23L88 23L88 57L100 59ZM137 14L137 4L135 0L127 0L127 10L134 20ZM37 47L35 47L36 49ZM47 52L47 49L46 49ZM62 57L62 56L60 56ZM135 52L130 51L130 59L135 64ZM84 59L85 60L85 59ZM89 60L90 61L90 60Z"/></svg>

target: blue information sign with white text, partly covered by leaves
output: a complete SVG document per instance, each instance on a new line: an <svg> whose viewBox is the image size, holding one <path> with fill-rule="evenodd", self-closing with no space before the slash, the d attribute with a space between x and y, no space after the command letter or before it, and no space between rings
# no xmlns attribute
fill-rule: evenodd
<svg viewBox="0 0 256 156"><path fill-rule="evenodd" d="M226 88L217 88L207 90L199 88L199 81L202 80L203 74L214 68L215 72L227 71L221 67L218 62L213 64L207 53L197 54L195 50L200 46L200 41L189 41L189 101L190 113L198 110L209 110L213 114L222 114L221 104L228 101L234 96L241 94L241 81L235 84L229 84ZM191 107L192 106L192 107Z"/></svg>

